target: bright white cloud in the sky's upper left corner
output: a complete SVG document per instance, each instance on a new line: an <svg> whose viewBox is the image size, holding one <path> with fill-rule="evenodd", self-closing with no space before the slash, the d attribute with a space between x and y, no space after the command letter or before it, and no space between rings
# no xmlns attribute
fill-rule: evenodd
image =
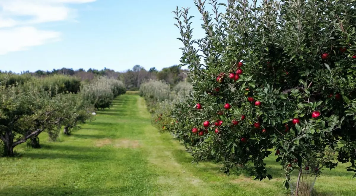
<svg viewBox="0 0 356 196"><path fill-rule="evenodd" d="M43 31L34 25L68 20L75 13L68 4L94 1L96 0L0 0L0 55L58 40L61 33Z"/></svg>

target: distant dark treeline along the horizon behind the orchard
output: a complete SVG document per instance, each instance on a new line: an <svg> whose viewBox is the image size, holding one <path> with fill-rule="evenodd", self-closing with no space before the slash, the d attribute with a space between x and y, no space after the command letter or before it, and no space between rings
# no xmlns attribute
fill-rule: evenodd
<svg viewBox="0 0 356 196"><path fill-rule="evenodd" d="M0 70L1 73L1 70ZM116 72L111 69L89 69L85 71L84 69L53 69L52 71L42 71L38 70L35 72L21 72L21 75L28 77L21 77L22 80L29 79L31 76L37 77L47 77L53 75L68 75L68 76L75 76L80 78L82 82L90 82L96 76L107 76L107 77L114 77L118 80L121 80L126 89L129 91L137 91L140 88L140 85L143 81L155 79L155 80L162 80L170 84L174 87L177 83L181 81L185 81L187 70L181 69L178 65L173 65L171 67L163 68L161 71L158 71L155 67L152 67L148 71L145 70L140 65L135 65L132 69L127 70L126 72ZM16 76L15 76L16 77ZM15 78L14 78L15 79ZM16 81L19 81L19 78L16 78ZM9 81L11 82L11 81ZM25 81L22 81L25 82Z"/></svg>

